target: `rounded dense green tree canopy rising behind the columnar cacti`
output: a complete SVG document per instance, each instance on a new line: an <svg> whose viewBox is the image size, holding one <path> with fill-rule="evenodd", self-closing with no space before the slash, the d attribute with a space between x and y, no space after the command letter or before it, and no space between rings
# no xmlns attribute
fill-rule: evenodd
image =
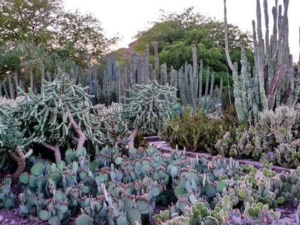
<svg viewBox="0 0 300 225"><path fill-rule="evenodd" d="M192 63L192 45L196 45L198 62L203 59L204 67L209 66L216 72L226 71L224 23L194 11L193 6L185 8L183 13L161 10L161 16L150 23L149 28L139 31L134 36L138 40L134 50L143 52L145 45L149 45L150 54L154 55L153 43L157 41L159 62L179 69L185 61ZM238 26L231 24L228 25L228 30L232 61L241 60L243 39L247 57L253 66L250 33L245 33ZM154 62L154 57L151 59Z"/></svg>

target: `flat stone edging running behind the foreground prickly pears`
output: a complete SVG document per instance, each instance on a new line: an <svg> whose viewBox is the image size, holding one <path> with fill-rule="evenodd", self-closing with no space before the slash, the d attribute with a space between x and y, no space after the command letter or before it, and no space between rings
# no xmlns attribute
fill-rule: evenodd
<svg viewBox="0 0 300 225"><path fill-rule="evenodd" d="M149 141L149 144L152 145L156 145L156 148L159 150L159 151L164 151L164 152L168 152L168 153L171 153L171 151L173 151L173 149L171 148L171 146L169 144L166 144L165 141L159 139L158 136L149 136L149 137L144 137L144 139L147 139ZM181 151L183 151L183 149L179 149ZM200 153L200 152L193 152L193 151L185 151L185 155L188 156L188 157L196 157L197 155L198 156L202 156L202 155L205 155L207 156L207 158L209 160L212 160L215 156L212 156L212 154L209 154L209 153ZM226 158L226 161L229 162L229 157L225 157ZM238 161L239 163L242 163L242 164L250 164L250 165L253 165L254 168L257 168L259 169L261 167L261 163L258 162L258 161L255 161L253 158L241 158L241 159L236 159L236 158L233 158L234 160ZM277 173L289 173L289 171L291 170L292 168L284 168L282 166L276 166L276 165L273 165L272 166L272 171L275 171Z"/></svg>

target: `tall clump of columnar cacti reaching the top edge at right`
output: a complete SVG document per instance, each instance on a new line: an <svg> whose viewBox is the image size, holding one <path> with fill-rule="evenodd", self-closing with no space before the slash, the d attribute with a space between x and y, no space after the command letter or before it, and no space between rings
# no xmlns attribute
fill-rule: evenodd
<svg viewBox="0 0 300 225"><path fill-rule="evenodd" d="M274 110L279 105L294 106L300 90L300 71L293 71L292 55L289 54L287 18L289 1L284 1L283 15L282 6L277 6L277 1L275 2L275 6L272 8L274 19L273 34L269 39L267 0L264 0L265 41L262 39L260 1L257 0L256 2L257 30L255 30L255 21L253 21L255 62L253 76L250 74L250 64L247 62L243 42L241 42L241 75L238 76L238 65L236 62L232 64L229 56L226 0L224 0L226 57L229 67L233 71L236 111L238 113L238 120L240 122L248 122L250 125L258 122L262 110Z"/></svg>

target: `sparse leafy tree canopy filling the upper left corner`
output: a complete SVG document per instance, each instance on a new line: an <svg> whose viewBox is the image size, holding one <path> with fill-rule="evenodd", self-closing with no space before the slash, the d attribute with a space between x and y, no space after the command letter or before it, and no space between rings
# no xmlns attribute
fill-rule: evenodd
<svg viewBox="0 0 300 225"><path fill-rule="evenodd" d="M62 0L0 0L0 77L40 74L40 61L51 74L87 69L89 56L103 64L120 37L106 37L102 25L91 13L66 11Z"/></svg>

